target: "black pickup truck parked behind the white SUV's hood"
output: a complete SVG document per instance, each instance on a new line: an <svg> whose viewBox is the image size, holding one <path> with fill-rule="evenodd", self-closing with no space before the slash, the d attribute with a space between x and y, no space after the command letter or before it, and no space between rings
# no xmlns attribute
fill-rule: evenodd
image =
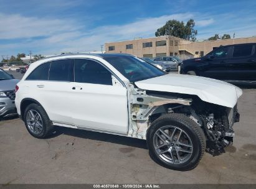
<svg viewBox="0 0 256 189"><path fill-rule="evenodd" d="M184 60L181 73L256 84L255 44L221 46L204 57Z"/></svg>

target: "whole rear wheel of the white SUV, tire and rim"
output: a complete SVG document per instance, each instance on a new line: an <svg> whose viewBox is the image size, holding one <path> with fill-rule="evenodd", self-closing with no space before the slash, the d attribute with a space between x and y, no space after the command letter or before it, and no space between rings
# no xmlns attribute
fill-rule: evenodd
<svg viewBox="0 0 256 189"><path fill-rule="evenodd" d="M31 119L31 113L35 116L34 120ZM29 106L27 106L27 108L24 111L23 118L27 131L29 131L29 133L33 137L36 137L38 139L44 139L49 134L50 130L53 128L52 122L50 121L44 108L42 108L42 106L38 104L29 104ZM34 126L32 126L32 122L35 122L35 120L37 120L37 124L34 124Z"/></svg>

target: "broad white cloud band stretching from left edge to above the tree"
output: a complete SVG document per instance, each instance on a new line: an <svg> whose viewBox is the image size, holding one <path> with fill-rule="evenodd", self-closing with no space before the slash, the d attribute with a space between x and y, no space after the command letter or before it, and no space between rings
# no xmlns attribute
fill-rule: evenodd
<svg viewBox="0 0 256 189"><path fill-rule="evenodd" d="M103 25L91 30L85 30L86 25L77 27L75 21L59 19L39 19L36 17L22 17L20 15L6 16L0 14L0 24L6 27L0 29L0 39L31 39L31 37L44 37L37 40L23 40L20 43L0 45L0 54L6 48L33 50L34 53L60 53L99 50L105 42L133 39L134 37L152 37L159 27L166 21L176 19L186 21L193 15L191 13L172 14L160 17L138 19L124 25ZM18 52L15 52L18 53ZM5 53L4 53L5 54Z"/></svg>

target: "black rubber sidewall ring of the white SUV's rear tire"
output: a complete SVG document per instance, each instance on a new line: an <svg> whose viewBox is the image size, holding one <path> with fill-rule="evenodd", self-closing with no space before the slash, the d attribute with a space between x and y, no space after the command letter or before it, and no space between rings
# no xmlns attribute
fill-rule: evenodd
<svg viewBox="0 0 256 189"><path fill-rule="evenodd" d="M26 125L26 128L27 128L27 131L29 131L29 133L30 133L32 136L34 136L34 137L40 139L40 138L43 138L43 137L45 136L45 132L46 132L46 122L45 122L44 116L42 116L42 110L41 110L39 107L40 107L40 106L37 105L37 104L29 104L29 106L27 106L27 108L25 109L25 113L24 113L24 122L25 122L25 125ZM31 109L36 110L36 111L40 114L40 116L41 116L41 118L42 118L42 123L43 123L43 125L42 125L42 132L40 132L40 134L34 134L33 132L30 131L29 127L27 126L27 113L28 113L28 111L31 110Z"/></svg>

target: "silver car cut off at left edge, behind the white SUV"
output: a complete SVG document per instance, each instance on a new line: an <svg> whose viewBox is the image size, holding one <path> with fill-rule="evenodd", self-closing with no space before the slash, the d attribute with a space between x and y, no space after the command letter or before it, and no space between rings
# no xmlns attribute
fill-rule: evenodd
<svg viewBox="0 0 256 189"><path fill-rule="evenodd" d="M0 69L0 119L17 114L14 99L15 86L18 81Z"/></svg>

